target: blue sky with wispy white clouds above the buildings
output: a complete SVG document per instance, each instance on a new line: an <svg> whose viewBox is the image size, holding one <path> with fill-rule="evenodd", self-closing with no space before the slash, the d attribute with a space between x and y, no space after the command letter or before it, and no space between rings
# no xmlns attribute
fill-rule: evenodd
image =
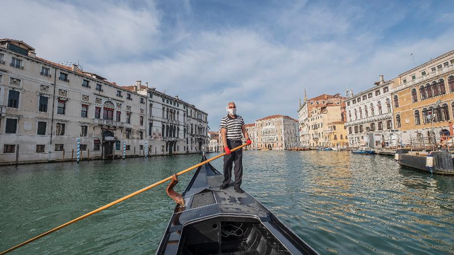
<svg viewBox="0 0 454 255"><path fill-rule="evenodd" d="M0 37L247 123L366 90L454 48L454 1L6 1ZM19 15L18 15L19 14ZM411 55L413 53L413 55Z"/></svg>

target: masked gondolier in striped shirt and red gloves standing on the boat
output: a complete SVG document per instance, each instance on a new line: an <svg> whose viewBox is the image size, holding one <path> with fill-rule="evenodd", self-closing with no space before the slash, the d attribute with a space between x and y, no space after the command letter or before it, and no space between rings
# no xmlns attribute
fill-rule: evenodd
<svg viewBox="0 0 454 255"><path fill-rule="evenodd" d="M241 139L246 138L247 145L251 144L249 134L244 126L243 117L237 115L237 106L234 102L227 104L227 116L221 119L220 131L222 136L222 142L224 144L225 156L224 156L224 181L220 185L220 189L229 186L232 179L232 164L235 162L235 191L238 193L244 193L241 189L241 179L243 177L243 148L231 152L230 150L242 145Z"/></svg>

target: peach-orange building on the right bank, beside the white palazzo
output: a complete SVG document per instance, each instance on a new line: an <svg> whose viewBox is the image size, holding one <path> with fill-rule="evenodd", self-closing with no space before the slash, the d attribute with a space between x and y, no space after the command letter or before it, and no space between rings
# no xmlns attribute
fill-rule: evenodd
<svg viewBox="0 0 454 255"><path fill-rule="evenodd" d="M333 134L333 132L329 130L329 126L332 127L333 122L343 123L345 118L344 115L344 109L341 103L330 103L312 107L308 118L307 135L309 140L307 141L307 147L332 147L332 143L334 143L334 136L330 138L329 135ZM334 126L336 126L336 130L343 130L343 127L341 128L337 125Z"/></svg>

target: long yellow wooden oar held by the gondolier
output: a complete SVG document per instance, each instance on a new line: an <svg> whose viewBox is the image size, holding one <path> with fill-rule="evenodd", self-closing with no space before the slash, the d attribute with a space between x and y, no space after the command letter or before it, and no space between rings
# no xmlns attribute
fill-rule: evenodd
<svg viewBox="0 0 454 255"><path fill-rule="evenodd" d="M231 151L239 150L239 149L243 148L244 146L246 146L246 144L240 145L240 146L238 146L238 147L232 149ZM182 174L184 174L184 173L186 173L186 172L189 172L189 171L191 171L191 170L193 170L193 169L195 169L195 168L197 168L197 167L199 167L199 166L202 166L202 165L204 165L204 164L206 164L206 163L208 163L208 162L210 162L210 161L213 161L213 160L215 160L215 159L217 159L217 158L220 158L220 157L222 157L222 156L224 156L224 155L225 155L225 153L222 153L222 154L219 154L219 155L217 155L217 156L215 156L215 157L212 157L212 158L210 158L210 159L208 159L208 160L205 160L205 161L203 161L203 162L200 162L200 163L198 163L197 165L191 166L190 168L187 168L187 169L185 169L185 170L183 170L183 171L177 173L177 176L182 175ZM66 226L68 226L68 225L71 225L71 224L73 224L73 223L75 223L75 222L78 222L78 221L80 221L80 220L82 220L82 219L84 219L84 218L87 218L87 217L90 216L90 215L93 215L93 214L95 214L95 213L97 213L97 212L100 212L100 211L102 211L102 210L104 210L104 209L107 209L107 208L109 208L109 207L111 207L111 206L113 206L113 205L116 205L116 204L118 204L118 203L120 203L120 202L123 202L123 201L125 201L125 200L127 200L127 199L129 199L129 198L132 198L132 197L134 197L134 196L136 196L136 195L138 195L138 194L144 192L145 190L148 190L148 189L150 189L150 188L152 188L152 187L155 187L155 186L157 186L157 185L159 185L159 184L162 184L162 183L164 183L164 182L166 182L166 181L168 181L168 180L171 180L171 179L172 179L172 176L169 176L169 177L167 177L167 178L165 178L165 179L162 179L162 180L160 180L160 181L158 181L158 182L155 182L155 183L153 183L153 184L151 184L151 185L149 185L149 186L146 186L146 187L144 187L144 188L142 188L142 189L139 189L139 190L137 190L136 192L129 194L128 196L125 196L125 197L123 197L123 198L121 198L121 199L118 199L118 200L116 200L116 201L113 201L113 202L111 202L111 203L109 203L109 204L107 204L107 205L105 205L105 206L99 207L98 209L93 210L93 211L91 211L91 212L89 212L89 213L86 213L86 214L84 214L84 215L82 215L82 216L80 216L80 217L78 217L78 218L76 218L76 219L74 219L74 220L68 221L68 222L65 223L65 224L62 224L62 225L60 225L60 226L58 226L58 227L55 227L55 228L52 228L52 229L50 229L49 231L44 232L44 233L42 233L42 234L40 234L40 235L37 235L37 236L35 236L35 237L31 238L31 239L28 239L27 241L25 241L25 242L23 242L23 243L21 243L21 244L18 244L18 245L14 246L14 247L11 247L11 248L9 248L9 249L7 249L7 250L5 250L5 251L2 251L2 252L0 252L0 255L6 254L7 252L10 252L10 251L12 251L12 250L14 250L14 249L17 249L17 248L19 248L19 247L21 247L21 246L23 246L23 245L25 245L25 244L27 244L27 243L30 243L30 242L32 242L32 241L34 241L34 240L37 240L37 239L39 239L39 238L41 238L41 237L43 237L43 236L46 236L46 235L50 234L50 233L52 233L52 232L55 232L55 231L57 231L57 230L59 230L59 229L62 229L62 228L64 228L64 227L66 227Z"/></svg>

